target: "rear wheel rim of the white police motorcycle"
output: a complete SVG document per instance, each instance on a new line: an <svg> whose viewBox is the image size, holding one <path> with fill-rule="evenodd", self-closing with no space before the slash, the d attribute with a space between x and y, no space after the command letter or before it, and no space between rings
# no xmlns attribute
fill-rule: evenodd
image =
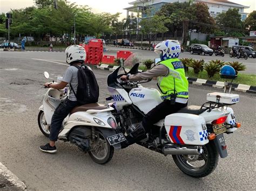
<svg viewBox="0 0 256 191"><path fill-rule="evenodd" d="M204 168L208 161L207 149L202 147L203 153L200 155L177 155L180 164L189 171L199 171Z"/></svg>

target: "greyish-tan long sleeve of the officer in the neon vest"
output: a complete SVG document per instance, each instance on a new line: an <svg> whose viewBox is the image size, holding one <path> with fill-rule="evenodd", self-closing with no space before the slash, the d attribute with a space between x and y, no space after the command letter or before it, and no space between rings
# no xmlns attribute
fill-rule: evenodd
<svg viewBox="0 0 256 191"><path fill-rule="evenodd" d="M166 76L169 73L169 69L164 65L157 65L146 72L130 75L130 81L147 80L153 77Z"/></svg>

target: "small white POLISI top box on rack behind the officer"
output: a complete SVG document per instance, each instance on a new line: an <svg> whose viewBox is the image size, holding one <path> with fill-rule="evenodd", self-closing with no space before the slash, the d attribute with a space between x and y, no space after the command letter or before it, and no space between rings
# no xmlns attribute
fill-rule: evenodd
<svg viewBox="0 0 256 191"><path fill-rule="evenodd" d="M210 101L210 102L234 104L239 102L239 95L214 92L214 93L207 94L206 99L207 101Z"/></svg>

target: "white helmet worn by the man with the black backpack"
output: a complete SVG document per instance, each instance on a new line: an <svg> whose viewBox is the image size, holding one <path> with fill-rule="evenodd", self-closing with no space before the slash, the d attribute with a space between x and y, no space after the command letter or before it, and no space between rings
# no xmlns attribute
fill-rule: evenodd
<svg viewBox="0 0 256 191"><path fill-rule="evenodd" d="M71 63L74 61L84 62L86 59L86 52L82 46L71 45L65 50L66 63Z"/></svg>

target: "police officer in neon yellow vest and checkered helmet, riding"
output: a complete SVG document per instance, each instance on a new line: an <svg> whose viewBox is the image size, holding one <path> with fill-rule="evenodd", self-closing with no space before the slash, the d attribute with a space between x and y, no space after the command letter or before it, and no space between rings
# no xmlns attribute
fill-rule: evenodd
<svg viewBox="0 0 256 191"><path fill-rule="evenodd" d="M188 81L185 76L184 65L178 59L180 51L180 44L177 41L165 40L154 48L154 52L160 54L161 59L155 67L143 73L128 74L121 77L125 81L140 81L158 77L158 87L163 100L156 108L146 114L136 129L130 132L126 137L127 141L122 143L123 148L146 138L146 133L153 128L153 124L186 107Z"/></svg>

